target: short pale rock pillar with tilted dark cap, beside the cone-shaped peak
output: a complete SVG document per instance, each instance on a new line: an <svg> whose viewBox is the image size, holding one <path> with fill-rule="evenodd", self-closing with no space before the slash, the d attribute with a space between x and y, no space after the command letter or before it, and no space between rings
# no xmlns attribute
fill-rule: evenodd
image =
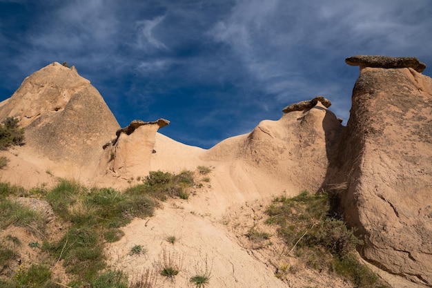
<svg viewBox="0 0 432 288"><path fill-rule="evenodd" d="M116 177L143 176L150 171L151 156L155 151L156 133L170 124L166 119L153 122L133 120L115 133L117 138L104 145L99 161L99 173L112 173Z"/></svg>

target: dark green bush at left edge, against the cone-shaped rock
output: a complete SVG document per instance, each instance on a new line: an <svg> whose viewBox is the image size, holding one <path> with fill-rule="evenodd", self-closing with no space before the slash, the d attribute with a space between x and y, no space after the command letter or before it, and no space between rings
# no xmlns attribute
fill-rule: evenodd
<svg viewBox="0 0 432 288"><path fill-rule="evenodd" d="M7 117L0 124L0 150L24 144L24 129L19 128L18 117Z"/></svg>

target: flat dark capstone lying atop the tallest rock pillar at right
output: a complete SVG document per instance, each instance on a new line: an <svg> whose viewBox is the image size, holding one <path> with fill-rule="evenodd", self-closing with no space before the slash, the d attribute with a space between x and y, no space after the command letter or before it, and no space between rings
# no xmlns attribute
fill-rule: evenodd
<svg viewBox="0 0 432 288"><path fill-rule="evenodd" d="M360 66L360 68L413 68L418 73L422 73L426 69L426 64L418 61L415 57L357 55L346 58L345 62L350 66Z"/></svg>

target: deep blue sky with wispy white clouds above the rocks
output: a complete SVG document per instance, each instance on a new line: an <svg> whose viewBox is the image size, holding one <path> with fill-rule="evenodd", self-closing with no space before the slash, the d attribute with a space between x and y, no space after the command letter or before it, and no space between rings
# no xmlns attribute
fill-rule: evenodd
<svg viewBox="0 0 432 288"><path fill-rule="evenodd" d="M346 57L414 56L432 75L431 0L0 0L0 20L0 100L67 61L121 126L162 117L203 148L316 95L346 123Z"/></svg>

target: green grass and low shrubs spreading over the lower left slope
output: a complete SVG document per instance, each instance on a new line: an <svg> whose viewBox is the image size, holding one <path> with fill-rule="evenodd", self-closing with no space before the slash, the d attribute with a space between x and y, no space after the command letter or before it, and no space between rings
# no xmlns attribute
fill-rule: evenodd
<svg viewBox="0 0 432 288"><path fill-rule="evenodd" d="M158 201L169 197L184 198L185 196L181 196L181 193L188 193L188 189L194 184L191 171L181 171L177 175L155 171L140 180L143 181L143 184L132 186L124 191L112 188L88 189L79 182L62 179L52 189L42 187L28 191L8 183L0 183L0 229L14 225L34 229L34 231L44 232L46 230L46 219L41 214L10 200L21 195L47 200L57 216L57 221L65 227L65 233L58 241L48 241L48 238L44 236L39 241L41 244L36 241L29 244L33 249L39 248L38 253L45 255L46 262L49 262L50 265L30 267L28 276L20 274L18 278L11 278L10 281L4 280L5 285L8 287L54 285L52 282L46 284L50 282L48 281L50 273L47 274L46 271L49 272L50 266L59 261L65 267L66 273L70 274L72 279L68 283L70 287L82 287L86 283L92 283L94 287L126 285L127 282L122 282L124 278L120 277L117 271L101 273L106 269L105 243L120 240L124 236L121 227L124 227L133 218L152 216L158 206ZM40 235L40 233L35 233L35 235ZM12 241L5 241L0 244L0 263L3 265L0 265L0 269L6 269L10 261L13 261L18 255L12 249ZM135 245L131 251L134 255L138 252L145 253L141 245ZM179 272L179 263L176 261L179 261L180 258L177 257L177 254L166 256L168 257L166 264L171 266L164 267L166 268L164 274L167 277L173 277ZM37 280L32 274L33 271L39 271L41 279ZM152 277L149 281L153 283L154 280L155 278ZM145 284L145 282L137 283L137 285Z"/></svg>

